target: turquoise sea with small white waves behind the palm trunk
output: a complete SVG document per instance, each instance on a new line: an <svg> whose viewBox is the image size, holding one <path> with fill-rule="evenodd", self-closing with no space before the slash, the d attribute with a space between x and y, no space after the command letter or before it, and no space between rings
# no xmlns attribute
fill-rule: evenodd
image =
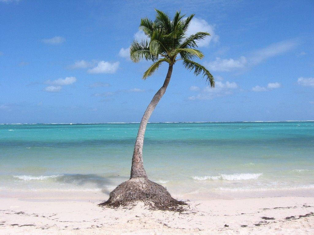
<svg viewBox="0 0 314 235"><path fill-rule="evenodd" d="M138 123L0 125L0 191L108 193L130 173ZM149 123L151 180L176 195L314 190L314 122Z"/></svg>

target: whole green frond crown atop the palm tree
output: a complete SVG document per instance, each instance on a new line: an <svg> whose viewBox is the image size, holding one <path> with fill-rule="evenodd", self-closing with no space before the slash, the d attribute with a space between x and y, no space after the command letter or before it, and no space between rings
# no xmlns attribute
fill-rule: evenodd
<svg viewBox="0 0 314 235"><path fill-rule="evenodd" d="M154 62L143 74L143 79L151 76L162 62L174 65L178 60L182 60L188 70L193 70L196 76L202 74L208 84L214 87L213 75L203 65L193 61L195 58L202 59L204 57L203 53L196 49L198 41L210 36L207 32L186 35L194 14L183 19L184 15L177 11L171 19L160 10L156 9L156 12L154 21L149 18L141 19L140 28L149 40L141 42L135 40L130 47L133 62L137 63L140 60ZM180 55L180 59L176 59L178 55Z"/></svg>

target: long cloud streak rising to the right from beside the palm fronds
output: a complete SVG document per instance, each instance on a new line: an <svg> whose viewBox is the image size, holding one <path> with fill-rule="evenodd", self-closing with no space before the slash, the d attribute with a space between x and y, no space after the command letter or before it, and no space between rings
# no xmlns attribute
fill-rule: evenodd
<svg viewBox="0 0 314 235"><path fill-rule="evenodd" d="M212 71L231 71L236 69L243 69L257 65L273 56L287 52L295 45L296 43L294 41L282 41L256 50L249 56L241 56L237 59L221 59L217 57L216 60L207 63L207 66Z"/></svg>

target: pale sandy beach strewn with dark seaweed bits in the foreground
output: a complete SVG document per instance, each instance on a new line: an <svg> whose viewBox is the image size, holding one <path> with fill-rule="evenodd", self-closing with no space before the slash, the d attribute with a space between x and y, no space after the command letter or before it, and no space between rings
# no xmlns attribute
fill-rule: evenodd
<svg viewBox="0 0 314 235"><path fill-rule="evenodd" d="M191 201L183 213L0 198L0 234L314 234L314 197Z"/></svg>

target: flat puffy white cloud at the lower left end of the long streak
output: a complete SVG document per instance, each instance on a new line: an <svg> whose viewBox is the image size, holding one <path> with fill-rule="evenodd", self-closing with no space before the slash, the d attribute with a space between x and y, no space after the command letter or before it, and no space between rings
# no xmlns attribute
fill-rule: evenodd
<svg viewBox="0 0 314 235"><path fill-rule="evenodd" d="M208 63L209 70L213 71L230 71L232 69L241 69L246 66L247 60L244 56L239 59L220 59L216 57L216 60Z"/></svg>

